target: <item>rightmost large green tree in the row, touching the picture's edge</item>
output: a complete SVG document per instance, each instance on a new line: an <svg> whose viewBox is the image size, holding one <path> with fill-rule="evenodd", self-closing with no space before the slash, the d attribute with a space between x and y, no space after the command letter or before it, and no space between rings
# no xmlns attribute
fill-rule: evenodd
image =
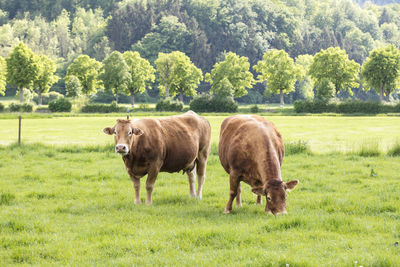
<svg viewBox="0 0 400 267"><path fill-rule="evenodd" d="M400 80L400 51L394 45L372 50L362 65L361 76L366 90L373 88L381 101L384 95L389 101Z"/></svg>

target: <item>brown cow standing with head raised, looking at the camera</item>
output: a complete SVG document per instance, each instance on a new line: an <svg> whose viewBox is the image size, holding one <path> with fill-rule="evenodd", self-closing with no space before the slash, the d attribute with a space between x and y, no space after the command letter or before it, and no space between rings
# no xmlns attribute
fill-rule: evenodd
<svg viewBox="0 0 400 267"><path fill-rule="evenodd" d="M146 203L159 172L186 172L190 196L201 198L210 152L209 122L193 111L161 119L117 120L114 127L103 132L115 135L115 152L122 155L126 170L135 188L135 203L140 203L140 178L147 176ZM194 170L196 165L196 171Z"/></svg>

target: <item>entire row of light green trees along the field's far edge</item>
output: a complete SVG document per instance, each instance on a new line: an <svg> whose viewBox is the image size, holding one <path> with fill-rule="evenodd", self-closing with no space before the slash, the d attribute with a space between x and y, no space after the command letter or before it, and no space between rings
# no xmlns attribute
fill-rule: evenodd
<svg viewBox="0 0 400 267"><path fill-rule="evenodd" d="M361 80L365 90L374 89L381 101L389 101L400 82L400 51L394 45L372 50L362 66L339 47L322 49L315 56L300 55L295 60L284 50L272 49L253 65L256 79L249 59L233 52L225 53L204 76L180 51L160 52L154 64L155 68L136 51L113 51L102 62L80 55L63 77L67 96L89 96L104 88L115 95L117 103L119 94L130 95L133 106L134 95L151 88L157 74L160 95L166 98L179 95L182 101L183 95L195 96L203 79L210 84L211 94L225 98L242 97L254 84L263 83L264 94L279 94L283 106L284 94L294 91L296 83L300 83L304 98L313 99L315 87L315 97L329 101L340 91L352 94ZM35 54L20 42L5 60L0 57L0 94L4 94L8 82L19 89L21 103L24 88L29 88L38 94L40 105L41 95L59 79L55 72L53 60Z"/></svg>

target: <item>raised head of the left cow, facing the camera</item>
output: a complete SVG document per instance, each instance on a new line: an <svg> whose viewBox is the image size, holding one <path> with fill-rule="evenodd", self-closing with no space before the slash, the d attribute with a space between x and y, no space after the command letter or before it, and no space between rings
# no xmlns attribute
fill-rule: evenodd
<svg viewBox="0 0 400 267"><path fill-rule="evenodd" d="M106 127L103 132L114 135L115 152L121 155L128 155L134 137L144 134L143 130L132 125L131 120L117 120L114 127Z"/></svg>

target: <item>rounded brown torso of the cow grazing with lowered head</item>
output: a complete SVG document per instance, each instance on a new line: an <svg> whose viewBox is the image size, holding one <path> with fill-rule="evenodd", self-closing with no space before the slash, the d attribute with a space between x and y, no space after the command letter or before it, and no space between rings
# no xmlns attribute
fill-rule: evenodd
<svg viewBox="0 0 400 267"><path fill-rule="evenodd" d="M221 125L219 157L226 172L232 171L253 184L255 178L281 178L284 156L281 134L272 122L256 115L235 115Z"/></svg>

